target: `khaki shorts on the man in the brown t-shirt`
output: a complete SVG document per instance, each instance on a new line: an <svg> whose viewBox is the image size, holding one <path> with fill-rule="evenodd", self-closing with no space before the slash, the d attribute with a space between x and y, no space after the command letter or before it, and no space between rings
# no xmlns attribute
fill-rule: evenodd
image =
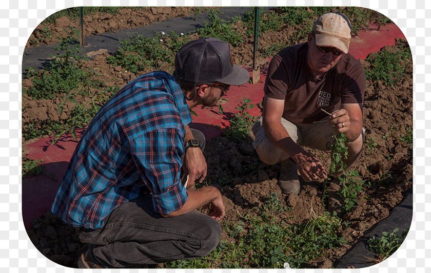
<svg viewBox="0 0 431 273"><path fill-rule="evenodd" d="M292 140L300 146L328 151L335 140L334 127L328 123L328 118L314 123L293 123L281 118L281 124ZM263 130L262 117L253 125L251 131L256 137L253 142L253 148L256 149L259 143L268 137Z"/></svg>

